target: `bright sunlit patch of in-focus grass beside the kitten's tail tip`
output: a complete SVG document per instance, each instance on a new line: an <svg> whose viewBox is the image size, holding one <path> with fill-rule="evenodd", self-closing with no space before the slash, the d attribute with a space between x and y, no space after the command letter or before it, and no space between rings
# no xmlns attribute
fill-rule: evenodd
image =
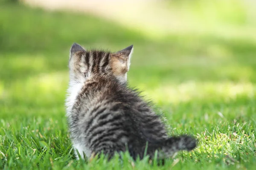
<svg viewBox="0 0 256 170"><path fill-rule="evenodd" d="M216 126L212 133L204 130L201 134L197 134L197 137L200 143L196 152L208 153L208 157L232 156L236 161L241 159L247 161L245 156L253 155L253 150L256 148L255 126L248 122Z"/></svg>

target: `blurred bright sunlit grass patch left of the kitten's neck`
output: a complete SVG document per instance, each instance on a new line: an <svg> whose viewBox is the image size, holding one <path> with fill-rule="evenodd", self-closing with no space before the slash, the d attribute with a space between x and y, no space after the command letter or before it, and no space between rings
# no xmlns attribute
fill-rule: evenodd
<svg viewBox="0 0 256 170"><path fill-rule="evenodd" d="M68 81L68 72L52 72L17 79L6 86L5 99L30 100L33 102L53 102L64 97Z"/></svg>

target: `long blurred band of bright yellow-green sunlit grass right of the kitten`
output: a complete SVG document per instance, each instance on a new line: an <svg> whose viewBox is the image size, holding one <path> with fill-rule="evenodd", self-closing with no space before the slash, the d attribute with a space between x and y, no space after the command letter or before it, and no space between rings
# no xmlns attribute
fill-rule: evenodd
<svg viewBox="0 0 256 170"><path fill-rule="evenodd" d="M225 100L235 99L237 96L255 97L255 85L250 82L183 82L180 84L162 84L155 88L141 85L151 99L161 103L177 104L192 100Z"/></svg>

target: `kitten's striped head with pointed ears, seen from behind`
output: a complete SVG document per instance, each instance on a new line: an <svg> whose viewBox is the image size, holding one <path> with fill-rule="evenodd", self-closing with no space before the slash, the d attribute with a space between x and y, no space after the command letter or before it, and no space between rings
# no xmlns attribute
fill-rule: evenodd
<svg viewBox="0 0 256 170"><path fill-rule="evenodd" d="M74 43L70 49L70 79L80 82L96 75L113 75L120 82L126 82L132 51L133 45L115 53L87 51Z"/></svg>

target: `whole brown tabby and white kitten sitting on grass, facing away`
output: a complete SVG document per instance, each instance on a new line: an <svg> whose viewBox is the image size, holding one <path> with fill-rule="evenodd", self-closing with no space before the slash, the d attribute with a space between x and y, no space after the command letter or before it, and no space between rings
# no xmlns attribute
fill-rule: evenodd
<svg viewBox="0 0 256 170"><path fill-rule="evenodd" d="M87 51L78 44L70 49L70 84L67 119L74 149L82 158L103 152L109 158L128 150L143 157L172 156L192 150L190 136L168 137L159 117L136 90L126 85L133 45L116 53Z"/></svg>

